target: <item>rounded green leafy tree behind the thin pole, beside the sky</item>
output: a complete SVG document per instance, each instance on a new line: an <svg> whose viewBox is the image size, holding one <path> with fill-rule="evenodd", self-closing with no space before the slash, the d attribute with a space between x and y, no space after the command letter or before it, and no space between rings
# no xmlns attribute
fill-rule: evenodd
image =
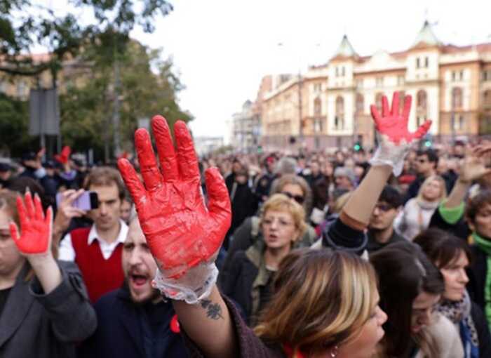
<svg viewBox="0 0 491 358"><path fill-rule="evenodd" d="M97 41L96 41L97 42ZM83 58L92 65L81 74L79 86L67 89L60 98L61 130L65 144L75 150L92 147L98 158L109 159L112 152L112 123L114 72L112 66L101 60L105 56L103 42L86 48ZM191 115L180 109L177 93L184 86L173 70L171 59L161 60L161 51L152 50L137 41L130 41L126 53L120 57L121 126L123 149L133 149L133 133L138 119L162 114L170 126L177 119L190 121ZM103 155L104 153L104 155Z"/></svg>

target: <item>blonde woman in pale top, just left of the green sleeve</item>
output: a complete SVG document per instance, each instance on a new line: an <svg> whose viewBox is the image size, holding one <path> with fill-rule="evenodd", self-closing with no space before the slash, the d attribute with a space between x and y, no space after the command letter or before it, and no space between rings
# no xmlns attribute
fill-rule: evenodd
<svg viewBox="0 0 491 358"><path fill-rule="evenodd" d="M410 199L399 213L394 226L408 240L429 227L431 216L447 197L445 180L440 175L431 175L419 188L417 197Z"/></svg>

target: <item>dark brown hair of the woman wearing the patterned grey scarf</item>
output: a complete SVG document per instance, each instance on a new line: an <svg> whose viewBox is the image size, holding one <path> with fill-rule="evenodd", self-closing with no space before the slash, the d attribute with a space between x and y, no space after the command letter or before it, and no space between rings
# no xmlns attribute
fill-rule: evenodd
<svg viewBox="0 0 491 358"><path fill-rule="evenodd" d="M450 232L433 227L420 232L413 242L422 248L439 269L458 258L461 252L465 253L467 260L471 262L472 253L469 245Z"/></svg>

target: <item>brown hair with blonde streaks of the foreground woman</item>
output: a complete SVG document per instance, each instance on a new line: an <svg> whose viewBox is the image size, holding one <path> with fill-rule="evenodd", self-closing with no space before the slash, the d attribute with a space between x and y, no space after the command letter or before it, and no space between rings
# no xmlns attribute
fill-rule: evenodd
<svg viewBox="0 0 491 358"><path fill-rule="evenodd" d="M376 305L377 279L354 254L302 248L281 261L273 292L257 336L318 354L357 338Z"/></svg>

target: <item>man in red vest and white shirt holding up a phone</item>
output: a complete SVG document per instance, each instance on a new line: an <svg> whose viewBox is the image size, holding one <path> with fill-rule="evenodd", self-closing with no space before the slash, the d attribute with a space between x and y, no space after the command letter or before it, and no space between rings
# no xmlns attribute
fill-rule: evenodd
<svg viewBox="0 0 491 358"><path fill-rule="evenodd" d="M79 265L90 301L95 303L100 296L123 284L121 252L128 225L120 215L125 190L118 171L109 167L94 168L86 178L85 190L97 193L98 207L87 212L93 225L65 235L60 243L60 260L74 261ZM73 203L79 197L69 199ZM81 214L65 206L64 212L69 210L72 214ZM57 230L59 232L60 227Z"/></svg>

